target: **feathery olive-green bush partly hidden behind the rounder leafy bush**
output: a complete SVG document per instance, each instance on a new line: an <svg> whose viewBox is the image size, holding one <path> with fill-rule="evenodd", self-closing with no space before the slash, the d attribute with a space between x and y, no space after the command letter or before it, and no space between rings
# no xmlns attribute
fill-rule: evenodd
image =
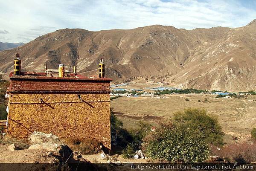
<svg viewBox="0 0 256 171"><path fill-rule="evenodd" d="M184 111L176 112L174 122L184 128L190 127L204 133L209 144L224 145L224 133L218 124L218 119L209 116L204 109L187 108Z"/></svg>

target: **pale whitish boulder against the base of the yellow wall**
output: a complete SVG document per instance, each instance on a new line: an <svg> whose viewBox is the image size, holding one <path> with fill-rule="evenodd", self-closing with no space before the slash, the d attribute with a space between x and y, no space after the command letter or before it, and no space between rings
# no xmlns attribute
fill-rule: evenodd
<svg viewBox="0 0 256 171"><path fill-rule="evenodd" d="M60 140L58 136L55 136L52 133L46 134L34 131L32 134L30 134L29 141L33 144L42 144L44 142L58 143Z"/></svg>

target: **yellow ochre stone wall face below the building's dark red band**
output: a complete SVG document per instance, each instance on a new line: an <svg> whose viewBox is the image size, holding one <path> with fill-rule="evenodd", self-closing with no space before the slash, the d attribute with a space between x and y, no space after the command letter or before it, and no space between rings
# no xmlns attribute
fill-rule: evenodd
<svg viewBox="0 0 256 171"><path fill-rule="evenodd" d="M8 135L27 138L40 131L96 139L111 149L109 93L80 95L81 100L77 93L10 94Z"/></svg>

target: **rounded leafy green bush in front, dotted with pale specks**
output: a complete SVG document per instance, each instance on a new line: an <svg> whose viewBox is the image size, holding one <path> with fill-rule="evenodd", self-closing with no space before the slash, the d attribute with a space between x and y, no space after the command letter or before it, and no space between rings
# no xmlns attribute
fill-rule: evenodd
<svg viewBox="0 0 256 171"><path fill-rule="evenodd" d="M203 162L208 157L209 146L202 133L165 122L145 137L143 151L152 159Z"/></svg>

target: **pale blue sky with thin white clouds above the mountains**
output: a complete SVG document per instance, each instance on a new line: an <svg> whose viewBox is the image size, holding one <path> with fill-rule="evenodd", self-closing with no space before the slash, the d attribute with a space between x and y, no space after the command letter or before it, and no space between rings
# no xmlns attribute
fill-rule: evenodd
<svg viewBox="0 0 256 171"><path fill-rule="evenodd" d="M0 41L29 42L57 29L241 27L256 0L0 0Z"/></svg>

